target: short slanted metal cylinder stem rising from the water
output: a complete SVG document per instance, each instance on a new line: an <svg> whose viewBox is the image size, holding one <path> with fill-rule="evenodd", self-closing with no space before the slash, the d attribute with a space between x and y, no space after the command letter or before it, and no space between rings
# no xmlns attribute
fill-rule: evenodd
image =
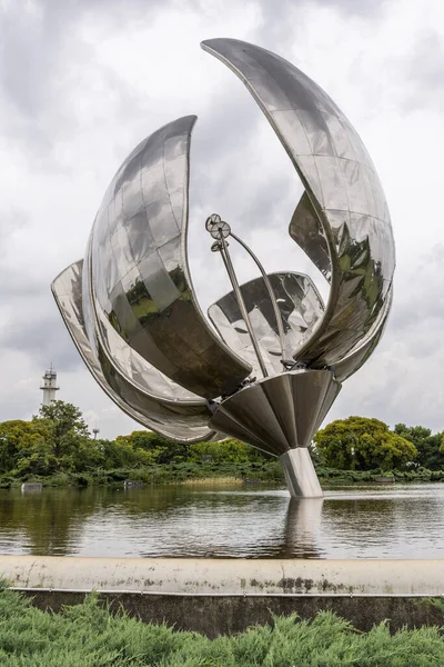
<svg viewBox="0 0 444 667"><path fill-rule="evenodd" d="M321 485L306 447L290 449L280 456L279 460L293 498L322 498Z"/></svg>

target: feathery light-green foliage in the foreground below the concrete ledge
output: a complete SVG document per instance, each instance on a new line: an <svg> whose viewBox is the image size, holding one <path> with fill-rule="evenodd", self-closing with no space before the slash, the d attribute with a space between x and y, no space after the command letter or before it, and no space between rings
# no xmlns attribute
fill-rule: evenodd
<svg viewBox="0 0 444 667"><path fill-rule="evenodd" d="M305 621L276 617L232 637L147 625L113 616L91 595L61 614L40 611L18 593L0 593L0 665L8 667L431 667L444 665L438 628L369 633L321 611Z"/></svg>

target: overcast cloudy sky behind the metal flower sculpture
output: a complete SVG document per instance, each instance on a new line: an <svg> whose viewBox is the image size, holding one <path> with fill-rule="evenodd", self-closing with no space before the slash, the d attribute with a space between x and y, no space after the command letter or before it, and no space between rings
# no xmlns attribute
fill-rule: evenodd
<svg viewBox="0 0 444 667"><path fill-rule="evenodd" d="M270 49L324 88L389 201L397 261L389 326L327 421L362 415L444 430L442 0L0 0L0 421L38 412L52 362L58 398L100 437L140 428L84 367L50 283L83 257L127 155L181 116L199 117L189 251L201 306L231 289L204 230L212 212L268 271L307 272L327 293L287 237L299 177L246 89L200 49L214 37ZM256 275L234 248L233 260L241 280Z"/></svg>

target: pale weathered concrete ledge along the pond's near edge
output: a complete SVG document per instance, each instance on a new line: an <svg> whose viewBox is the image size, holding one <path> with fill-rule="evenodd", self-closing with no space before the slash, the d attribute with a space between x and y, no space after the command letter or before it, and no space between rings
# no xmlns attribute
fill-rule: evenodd
<svg viewBox="0 0 444 667"><path fill-rule="evenodd" d="M444 560L244 560L0 556L0 577L29 591L211 597L444 595Z"/></svg>

